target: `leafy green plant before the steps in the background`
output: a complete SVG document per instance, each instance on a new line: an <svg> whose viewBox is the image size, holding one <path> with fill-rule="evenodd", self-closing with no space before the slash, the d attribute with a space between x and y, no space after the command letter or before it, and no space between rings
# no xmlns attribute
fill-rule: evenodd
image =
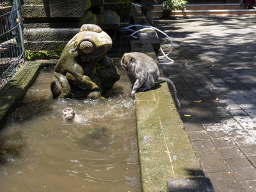
<svg viewBox="0 0 256 192"><path fill-rule="evenodd" d="M185 4L188 4L186 0L166 0L163 2L163 19L170 19L172 10L179 8L185 8ZM186 9L186 8L185 8Z"/></svg>

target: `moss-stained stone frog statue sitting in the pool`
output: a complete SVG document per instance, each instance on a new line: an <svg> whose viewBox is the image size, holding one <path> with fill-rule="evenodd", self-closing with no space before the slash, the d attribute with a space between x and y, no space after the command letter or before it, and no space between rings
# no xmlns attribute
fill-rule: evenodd
<svg viewBox="0 0 256 192"><path fill-rule="evenodd" d="M111 46L111 38L99 26L84 24L54 68L53 97L102 99L102 92L120 79L113 60L106 56Z"/></svg>

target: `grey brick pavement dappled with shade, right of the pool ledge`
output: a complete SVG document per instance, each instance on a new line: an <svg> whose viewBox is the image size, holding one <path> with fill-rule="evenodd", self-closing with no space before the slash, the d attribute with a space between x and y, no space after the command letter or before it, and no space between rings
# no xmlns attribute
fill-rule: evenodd
<svg viewBox="0 0 256 192"><path fill-rule="evenodd" d="M161 65L179 115L216 191L256 191L255 17L155 20L173 40ZM164 50L170 49L166 39ZM196 101L196 102L195 102Z"/></svg>

